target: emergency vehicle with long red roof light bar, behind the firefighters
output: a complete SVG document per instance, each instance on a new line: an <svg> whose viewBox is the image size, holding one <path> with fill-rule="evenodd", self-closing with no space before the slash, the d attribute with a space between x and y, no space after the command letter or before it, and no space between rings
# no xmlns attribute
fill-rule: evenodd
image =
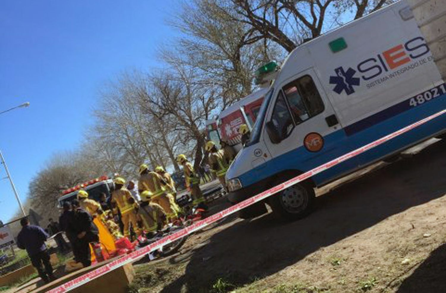
<svg viewBox="0 0 446 293"><path fill-rule="evenodd" d="M115 184L113 183L113 180L107 176L101 176L76 185L70 189L66 189L62 192L62 196L58 199L59 208L62 208L65 201L72 201L77 198L78 191L81 189L87 191L88 198L91 198L97 202L99 202L101 193L105 193L108 201L111 197L111 192L115 189Z"/></svg>

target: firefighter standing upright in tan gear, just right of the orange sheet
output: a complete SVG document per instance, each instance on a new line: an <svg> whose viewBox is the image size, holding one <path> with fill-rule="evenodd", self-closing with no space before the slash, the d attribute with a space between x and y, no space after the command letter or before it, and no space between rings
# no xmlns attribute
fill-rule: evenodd
<svg viewBox="0 0 446 293"><path fill-rule="evenodd" d="M125 187L125 179L122 177L116 177L115 190L111 193L111 204L116 206L121 212L121 220L124 224L124 237L130 236L130 224L132 224L133 230L136 235L140 235L141 231L138 228L136 220L136 210L138 204L132 197L132 193Z"/></svg>

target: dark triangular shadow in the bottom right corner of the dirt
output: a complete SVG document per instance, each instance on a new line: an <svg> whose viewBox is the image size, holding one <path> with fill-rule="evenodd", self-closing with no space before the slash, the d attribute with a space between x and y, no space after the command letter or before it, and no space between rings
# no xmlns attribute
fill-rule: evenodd
<svg viewBox="0 0 446 293"><path fill-rule="evenodd" d="M402 282L397 292L446 292L446 244L430 253Z"/></svg>

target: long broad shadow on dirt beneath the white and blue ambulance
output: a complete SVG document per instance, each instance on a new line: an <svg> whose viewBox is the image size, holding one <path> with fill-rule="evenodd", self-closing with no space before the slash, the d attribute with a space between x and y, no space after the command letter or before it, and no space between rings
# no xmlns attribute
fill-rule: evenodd
<svg viewBox="0 0 446 293"><path fill-rule="evenodd" d="M186 273L162 292L208 292L219 277L235 285L250 283L387 217L441 197L446 193L445 147L441 141L415 157L339 186L318 197L317 211L301 221L280 223L271 214L236 221L194 252ZM444 277L442 264L438 270ZM427 262L427 269L418 269L420 273L414 273L402 288L415 284L417 274L429 273L429 266Z"/></svg>

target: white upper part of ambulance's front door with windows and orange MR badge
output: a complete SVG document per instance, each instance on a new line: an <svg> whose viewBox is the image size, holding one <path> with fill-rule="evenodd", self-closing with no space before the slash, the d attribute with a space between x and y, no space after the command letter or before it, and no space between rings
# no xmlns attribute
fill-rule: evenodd
<svg viewBox="0 0 446 293"><path fill-rule="evenodd" d="M275 92L264 128L271 156L292 156L299 148L308 156L326 152L326 136L341 127L314 70L285 80Z"/></svg>

